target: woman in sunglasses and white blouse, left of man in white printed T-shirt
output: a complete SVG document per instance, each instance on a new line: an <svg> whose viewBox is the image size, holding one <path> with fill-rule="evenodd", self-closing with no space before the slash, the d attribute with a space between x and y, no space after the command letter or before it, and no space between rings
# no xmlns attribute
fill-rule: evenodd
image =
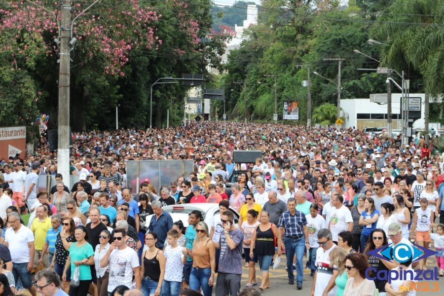
<svg viewBox="0 0 444 296"><path fill-rule="evenodd" d="M104 258L110 249L110 238L111 232L108 230L103 230L99 234L99 244L96 246L94 251L94 267L96 268L97 275L97 293L99 296L108 296L108 279L110 273L107 271L108 266L101 268L100 260Z"/></svg>

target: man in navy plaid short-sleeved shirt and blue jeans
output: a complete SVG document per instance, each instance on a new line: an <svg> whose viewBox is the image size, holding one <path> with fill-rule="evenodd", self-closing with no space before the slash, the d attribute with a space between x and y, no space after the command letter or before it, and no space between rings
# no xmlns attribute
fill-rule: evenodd
<svg viewBox="0 0 444 296"><path fill-rule="evenodd" d="M299 192L299 191L298 191ZM287 255L288 283L295 284L293 274L293 257L296 254L296 288L302 289L303 268L302 259L305 247L310 249L308 242L307 219L304 213L296 210L296 200L289 198L287 201L288 211L281 215L278 226L284 234L284 245Z"/></svg>

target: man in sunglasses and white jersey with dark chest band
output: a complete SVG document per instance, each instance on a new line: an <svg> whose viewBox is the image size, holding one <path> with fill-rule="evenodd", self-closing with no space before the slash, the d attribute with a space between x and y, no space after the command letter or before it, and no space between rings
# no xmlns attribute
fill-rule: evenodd
<svg viewBox="0 0 444 296"><path fill-rule="evenodd" d="M339 274L337 269L333 268L330 262L330 252L336 248L332 241L332 232L324 228L318 232L319 248L316 251L317 270L314 274L313 284L311 286L311 295L328 296L336 295L336 287L334 280Z"/></svg>

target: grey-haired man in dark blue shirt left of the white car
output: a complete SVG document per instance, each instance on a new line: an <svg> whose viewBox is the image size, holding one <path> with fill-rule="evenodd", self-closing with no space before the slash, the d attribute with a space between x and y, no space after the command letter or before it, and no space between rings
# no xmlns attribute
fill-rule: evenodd
<svg viewBox="0 0 444 296"><path fill-rule="evenodd" d="M151 208L154 215L151 217L148 230L154 231L157 234L156 247L162 249L168 230L173 228L173 219L170 214L162 210L162 204L160 201L154 200L151 203Z"/></svg>

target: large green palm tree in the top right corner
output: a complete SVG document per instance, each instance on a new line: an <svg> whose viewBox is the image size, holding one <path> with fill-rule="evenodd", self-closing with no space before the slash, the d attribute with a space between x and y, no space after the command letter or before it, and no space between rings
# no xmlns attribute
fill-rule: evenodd
<svg viewBox="0 0 444 296"><path fill-rule="evenodd" d="M407 63L422 74L428 142L430 97L437 98L444 92L444 1L395 0L387 12L374 28L375 36L387 38L389 44L381 48L382 63L395 69Z"/></svg>

